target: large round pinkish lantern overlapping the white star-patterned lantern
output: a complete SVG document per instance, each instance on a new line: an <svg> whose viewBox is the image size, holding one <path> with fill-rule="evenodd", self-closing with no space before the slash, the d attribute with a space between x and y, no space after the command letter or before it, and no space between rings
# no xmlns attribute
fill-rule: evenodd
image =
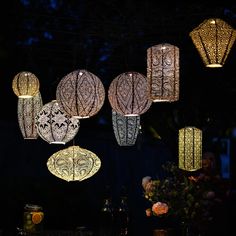
<svg viewBox="0 0 236 236"><path fill-rule="evenodd" d="M89 118L102 108L105 89L96 75L86 70L76 70L61 79L56 100L69 116Z"/></svg>

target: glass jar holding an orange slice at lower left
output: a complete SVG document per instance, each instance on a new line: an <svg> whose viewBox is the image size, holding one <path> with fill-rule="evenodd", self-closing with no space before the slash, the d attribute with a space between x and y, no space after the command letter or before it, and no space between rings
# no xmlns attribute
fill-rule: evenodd
<svg viewBox="0 0 236 236"><path fill-rule="evenodd" d="M43 230L43 208L38 205L26 204L24 207L23 229L25 233L40 234Z"/></svg>

